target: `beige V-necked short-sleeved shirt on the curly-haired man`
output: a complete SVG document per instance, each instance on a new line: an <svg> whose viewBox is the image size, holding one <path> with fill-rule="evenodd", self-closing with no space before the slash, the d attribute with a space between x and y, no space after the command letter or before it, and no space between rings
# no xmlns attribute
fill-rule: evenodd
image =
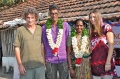
<svg viewBox="0 0 120 79"><path fill-rule="evenodd" d="M20 48L21 61L26 69L43 66L41 35L42 29L38 25L34 34L25 26L19 27L16 31L13 45Z"/></svg>

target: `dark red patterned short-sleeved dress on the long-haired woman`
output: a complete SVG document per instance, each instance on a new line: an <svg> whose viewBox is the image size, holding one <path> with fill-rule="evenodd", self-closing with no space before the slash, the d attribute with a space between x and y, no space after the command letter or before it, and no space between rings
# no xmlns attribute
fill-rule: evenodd
<svg viewBox="0 0 120 79"><path fill-rule="evenodd" d="M111 70L109 72L105 72L105 63L109 50L109 46L107 45L107 37L106 37L106 34L108 32L113 32L112 27L109 24L105 24L103 26L102 37L99 37L98 33L96 32L92 33L91 70L92 70L92 74L95 76L115 75L114 72L115 65L113 62L113 58L111 59Z"/></svg>

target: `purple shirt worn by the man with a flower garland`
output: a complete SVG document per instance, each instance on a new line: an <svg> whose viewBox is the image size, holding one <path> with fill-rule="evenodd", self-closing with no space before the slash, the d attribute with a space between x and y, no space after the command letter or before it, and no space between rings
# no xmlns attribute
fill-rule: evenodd
<svg viewBox="0 0 120 79"><path fill-rule="evenodd" d="M58 48L58 55L54 56L52 53L52 48L50 47L47 36L46 36L46 25L42 27L42 41L43 41L44 48L45 48L45 53L46 53L45 56L46 56L47 62L60 63L60 62L67 61L66 43L67 43L67 39L70 33L69 30L70 30L70 27L68 23L63 22L62 41L61 41L60 47ZM52 26L51 34L52 34L54 43L56 42L58 31L59 31L58 26L56 26L56 28Z"/></svg>

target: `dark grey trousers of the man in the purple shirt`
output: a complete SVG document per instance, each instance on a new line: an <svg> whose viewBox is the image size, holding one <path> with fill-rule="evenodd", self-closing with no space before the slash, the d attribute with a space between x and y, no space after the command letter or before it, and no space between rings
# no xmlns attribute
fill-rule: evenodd
<svg viewBox="0 0 120 79"><path fill-rule="evenodd" d="M58 64L47 62L46 64L47 79L57 79L57 71L59 72L59 79L69 79L67 62L62 62Z"/></svg>

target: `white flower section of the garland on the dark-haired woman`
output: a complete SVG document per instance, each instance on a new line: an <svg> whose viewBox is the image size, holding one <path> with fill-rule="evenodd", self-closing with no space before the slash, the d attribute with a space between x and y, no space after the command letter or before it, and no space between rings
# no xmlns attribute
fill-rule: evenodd
<svg viewBox="0 0 120 79"><path fill-rule="evenodd" d="M75 54L76 58L82 58L83 57L83 54L85 53L86 47L89 43L87 39L88 39L87 35L82 36L81 47L80 47L80 50L79 50L79 48L77 46L78 42L77 42L76 36L72 37L72 47L73 47L73 51L74 51L74 54ZM80 65L76 64L76 66L80 66Z"/></svg>

